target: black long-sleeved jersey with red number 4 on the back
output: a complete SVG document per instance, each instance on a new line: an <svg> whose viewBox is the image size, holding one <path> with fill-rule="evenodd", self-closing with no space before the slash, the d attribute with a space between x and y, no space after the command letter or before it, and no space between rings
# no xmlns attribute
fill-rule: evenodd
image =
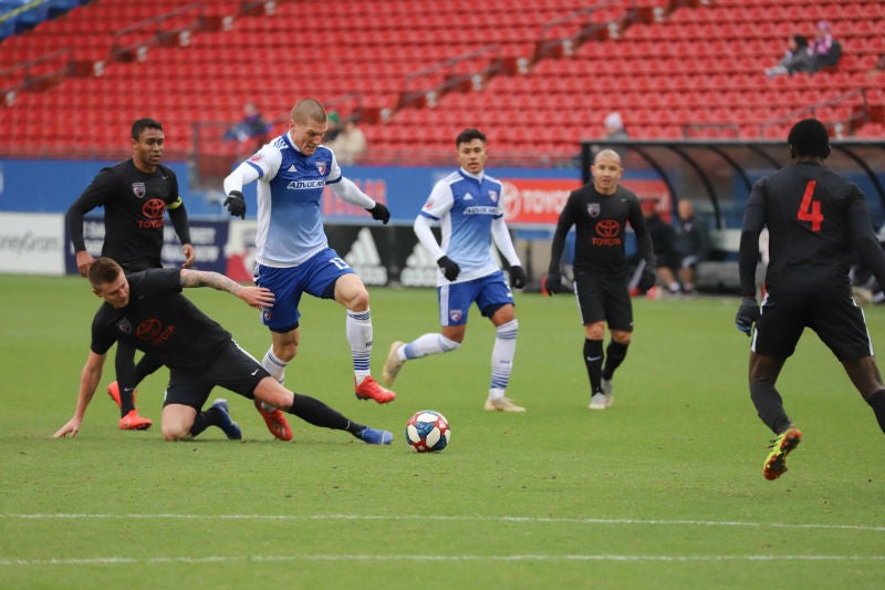
<svg viewBox="0 0 885 590"><path fill-rule="evenodd" d="M885 277L885 261L863 193L824 166L800 162L753 185L743 214L741 290L756 292L758 237L769 229L766 288L779 292L847 290L853 250L878 256L871 268ZM873 248L875 245L875 248Z"/></svg>

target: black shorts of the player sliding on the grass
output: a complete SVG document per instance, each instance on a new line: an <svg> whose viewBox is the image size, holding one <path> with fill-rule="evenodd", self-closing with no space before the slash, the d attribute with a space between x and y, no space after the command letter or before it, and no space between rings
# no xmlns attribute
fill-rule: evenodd
<svg viewBox="0 0 885 590"><path fill-rule="evenodd" d="M231 340L202 373L171 370L163 405L189 405L199 412L216 385L252 400L258 383L269 375L261 363Z"/></svg>

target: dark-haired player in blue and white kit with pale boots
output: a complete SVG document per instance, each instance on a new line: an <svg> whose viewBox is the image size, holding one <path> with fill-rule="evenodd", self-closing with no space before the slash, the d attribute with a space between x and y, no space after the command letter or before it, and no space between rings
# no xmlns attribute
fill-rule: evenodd
<svg viewBox="0 0 885 590"><path fill-rule="evenodd" d="M525 412L507 395L513 368L519 322L507 278L491 256L492 241L510 263L513 287L525 286L525 272L513 249L501 210L501 183L485 173L486 136L475 128L462 131L455 141L460 169L439 180L415 219L415 234L439 265L440 333L428 333L408 344L394 342L382 377L392 385L406 361L457 350L464 342L467 315L472 303L494 324L491 384L487 411ZM437 244L430 225L438 221L442 244Z"/></svg>

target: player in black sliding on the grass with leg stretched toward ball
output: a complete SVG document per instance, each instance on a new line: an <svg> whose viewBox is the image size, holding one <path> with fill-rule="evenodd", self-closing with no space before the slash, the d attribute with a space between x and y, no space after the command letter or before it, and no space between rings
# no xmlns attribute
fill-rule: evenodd
<svg viewBox="0 0 885 590"><path fill-rule="evenodd" d="M257 405L264 402L283 408L315 426L346 431L368 444L388 445L393 441L387 431L352 422L320 400L284 389L233 341L230 332L181 294L184 288L212 287L261 309L273 306L270 290L243 287L218 272L201 270L148 269L127 276L110 258L96 260L88 279L104 304L92 320L92 343L80 375L74 416L54 438L76 436L102 379L107 350L114 342L127 341L169 368L162 420L166 441L188 439L209 426L218 426L228 438L242 438L227 401L217 400L202 411L216 385L254 400Z"/></svg>

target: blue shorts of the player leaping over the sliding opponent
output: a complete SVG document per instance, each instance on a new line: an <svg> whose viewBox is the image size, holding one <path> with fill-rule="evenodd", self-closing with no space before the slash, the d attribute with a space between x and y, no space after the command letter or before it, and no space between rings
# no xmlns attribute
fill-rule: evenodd
<svg viewBox="0 0 885 590"><path fill-rule="evenodd" d="M294 330L301 318L298 311L301 293L334 299L335 281L339 277L353 273L353 269L332 248L326 248L296 267L257 265L256 284L270 289L277 299L272 308L261 310L261 321L274 332Z"/></svg>

